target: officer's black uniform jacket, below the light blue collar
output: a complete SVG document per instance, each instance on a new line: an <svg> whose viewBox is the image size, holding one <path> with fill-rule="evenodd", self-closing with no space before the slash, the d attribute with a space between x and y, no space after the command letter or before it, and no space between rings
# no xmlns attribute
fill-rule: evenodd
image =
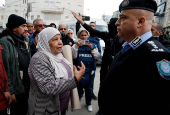
<svg viewBox="0 0 170 115"><path fill-rule="evenodd" d="M157 66L164 59L170 61L170 53L153 37L135 50L119 52L99 90L100 112L103 115L169 115L170 80L159 74L160 66Z"/></svg>

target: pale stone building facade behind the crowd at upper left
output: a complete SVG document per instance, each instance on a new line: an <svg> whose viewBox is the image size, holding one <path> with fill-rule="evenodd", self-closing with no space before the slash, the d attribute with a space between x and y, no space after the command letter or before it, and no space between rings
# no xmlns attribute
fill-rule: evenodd
<svg viewBox="0 0 170 115"><path fill-rule="evenodd" d="M61 20L73 18L71 11L84 14L84 0L5 0L5 7L0 8L0 23L16 14L26 20L41 18L47 25L58 25Z"/></svg>

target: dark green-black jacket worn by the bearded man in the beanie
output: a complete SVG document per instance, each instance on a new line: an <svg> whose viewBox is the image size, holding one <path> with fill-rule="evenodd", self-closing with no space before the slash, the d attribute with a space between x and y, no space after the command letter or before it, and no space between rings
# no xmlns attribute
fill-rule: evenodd
<svg viewBox="0 0 170 115"><path fill-rule="evenodd" d="M6 36L5 40L9 42L6 42L6 43L3 42L2 38L4 38L5 36ZM12 39L9 39L8 36L10 36ZM30 86L28 66L30 63L31 53L30 53L29 44L27 46L25 44L25 41L29 43L29 39L27 37L19 36L11 32L10 30L4 30L2 34L0 34L0 40L2 42L1 45L3 47L2 54L4 55L2 55L2 58L3 58L5 70L7 72L8 77L11 77L8 79L8 83L10 83L11 81L11 84L12 84L11 87L13 86L17 88L11 94L21 93L20 91L21 91L22 85L18 86L18 84L23 84L26 92L28 93L29 86ZM16 50L14 50L14 48ZM10 53L5 55L6 51ZM23 72L23 79L21 79L20 77L21 75L20 71Z"/></svg>

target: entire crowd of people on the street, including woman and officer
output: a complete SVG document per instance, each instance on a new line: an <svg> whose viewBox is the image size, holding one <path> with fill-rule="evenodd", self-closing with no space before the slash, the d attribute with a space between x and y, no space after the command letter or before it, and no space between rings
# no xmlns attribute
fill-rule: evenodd
<svg viewBox="0 0 170 115"><path fill-rule="evenodd" d="M87 110L93 111L99 38L105 49L96 115L169 115L170 41L162 24L152 22L156 11L154 0L123 0L108 32L72 12L77 42L65 24L57 29L11 14L0 33L0 115L66 115L74 88L79 100L85 93ZM65 45L73 64L63 56Z"/></svg>

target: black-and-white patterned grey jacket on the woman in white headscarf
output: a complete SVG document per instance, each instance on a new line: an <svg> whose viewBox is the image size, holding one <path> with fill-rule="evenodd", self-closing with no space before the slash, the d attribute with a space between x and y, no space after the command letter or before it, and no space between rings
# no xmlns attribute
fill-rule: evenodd
<svg viewBox="0 0 170 115"><path fill-rule="evenodd" d="M40 52L32 57L28 73L31 82L28 115L59 115L59 94L75 88L76 78L56 79L49 58Z"/></svg>

